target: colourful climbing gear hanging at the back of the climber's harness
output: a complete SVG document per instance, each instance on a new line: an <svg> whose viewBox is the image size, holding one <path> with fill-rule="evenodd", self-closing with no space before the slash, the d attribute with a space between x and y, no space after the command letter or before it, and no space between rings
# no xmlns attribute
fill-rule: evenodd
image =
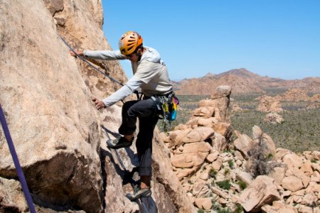
<svg viewBox="0 0 320 213"><path fill-rule="evenodd" d="M171 129L171 122L176 120L177 108L179 104L178 97L176 97L174 92L169 92L168 94L164 95L154 95L151 97L151 99L153 99L154 102L156 102L156 99L161 102L161 107L158 104L156 107L158 109L162 109L162 114L159 114L159 119L163 119L162 127L164 132L167 132L167 124L169 123Z"/></svg>

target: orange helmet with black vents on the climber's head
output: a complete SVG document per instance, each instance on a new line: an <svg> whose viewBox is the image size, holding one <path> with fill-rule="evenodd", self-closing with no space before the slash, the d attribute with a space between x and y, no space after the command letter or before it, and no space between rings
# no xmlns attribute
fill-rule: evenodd
<svg viewBox="0 0 320 213"><path fill-rule="evenodd" d="M119 40L119 49L122 55L130 55L142 44L142 37L134 31L127 31Z"/></svg>

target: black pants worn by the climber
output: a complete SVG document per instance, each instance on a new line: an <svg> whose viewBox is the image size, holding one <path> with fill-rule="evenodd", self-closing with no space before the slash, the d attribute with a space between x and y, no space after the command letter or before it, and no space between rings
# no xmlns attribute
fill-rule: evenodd
<svg viewBox="0 0 320 213"><path fill-rule="evenodd" d="M153 99L144 99L125 102L122 107L122 124L119 127L120 134L132 135L137 128L137 117L139 117L139 133L137 135L136 146L140 176L151 176L152 138L156 122L159 119L157 104L159 104L158 100L155 102Z"/></svg>

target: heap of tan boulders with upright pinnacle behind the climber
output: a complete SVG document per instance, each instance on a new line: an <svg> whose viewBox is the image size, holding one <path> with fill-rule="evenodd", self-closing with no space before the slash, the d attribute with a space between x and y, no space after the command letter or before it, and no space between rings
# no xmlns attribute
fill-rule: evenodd
<svg viewBox="0 0 320 213"><path fill-rule="evenodd" d="M172 169L198 212L320 212L320 152L297 155L228 122L230 87L199 102L186 124L162 137Z"/></svg>

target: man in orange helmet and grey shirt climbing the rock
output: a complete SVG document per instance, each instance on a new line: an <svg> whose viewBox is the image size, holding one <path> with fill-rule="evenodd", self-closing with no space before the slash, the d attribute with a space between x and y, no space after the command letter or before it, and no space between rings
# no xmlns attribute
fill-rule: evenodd
<svg viewBox="0 0 320 213"><path fill-rule="evenodd" d="M118 149L132 145L136 123L139 118L137 133L137 155L139 158L138 173L141 180L139 191L128 194L130 200L151 196L151 153L154 128L162 114L161 97L172 94L172 84L168 70L154 48L143 45L142 36L128 31L119 40L119 50L77 50L78 55L100 60L130 60L133 77L123 87L105 99L92 98L97 109L107 108L119 102L141 88L143 98L125 102L122 106L122 124L119 133L122 137L107 141L107 147ZM70 51L70 55L76 56Z"/></svg>

